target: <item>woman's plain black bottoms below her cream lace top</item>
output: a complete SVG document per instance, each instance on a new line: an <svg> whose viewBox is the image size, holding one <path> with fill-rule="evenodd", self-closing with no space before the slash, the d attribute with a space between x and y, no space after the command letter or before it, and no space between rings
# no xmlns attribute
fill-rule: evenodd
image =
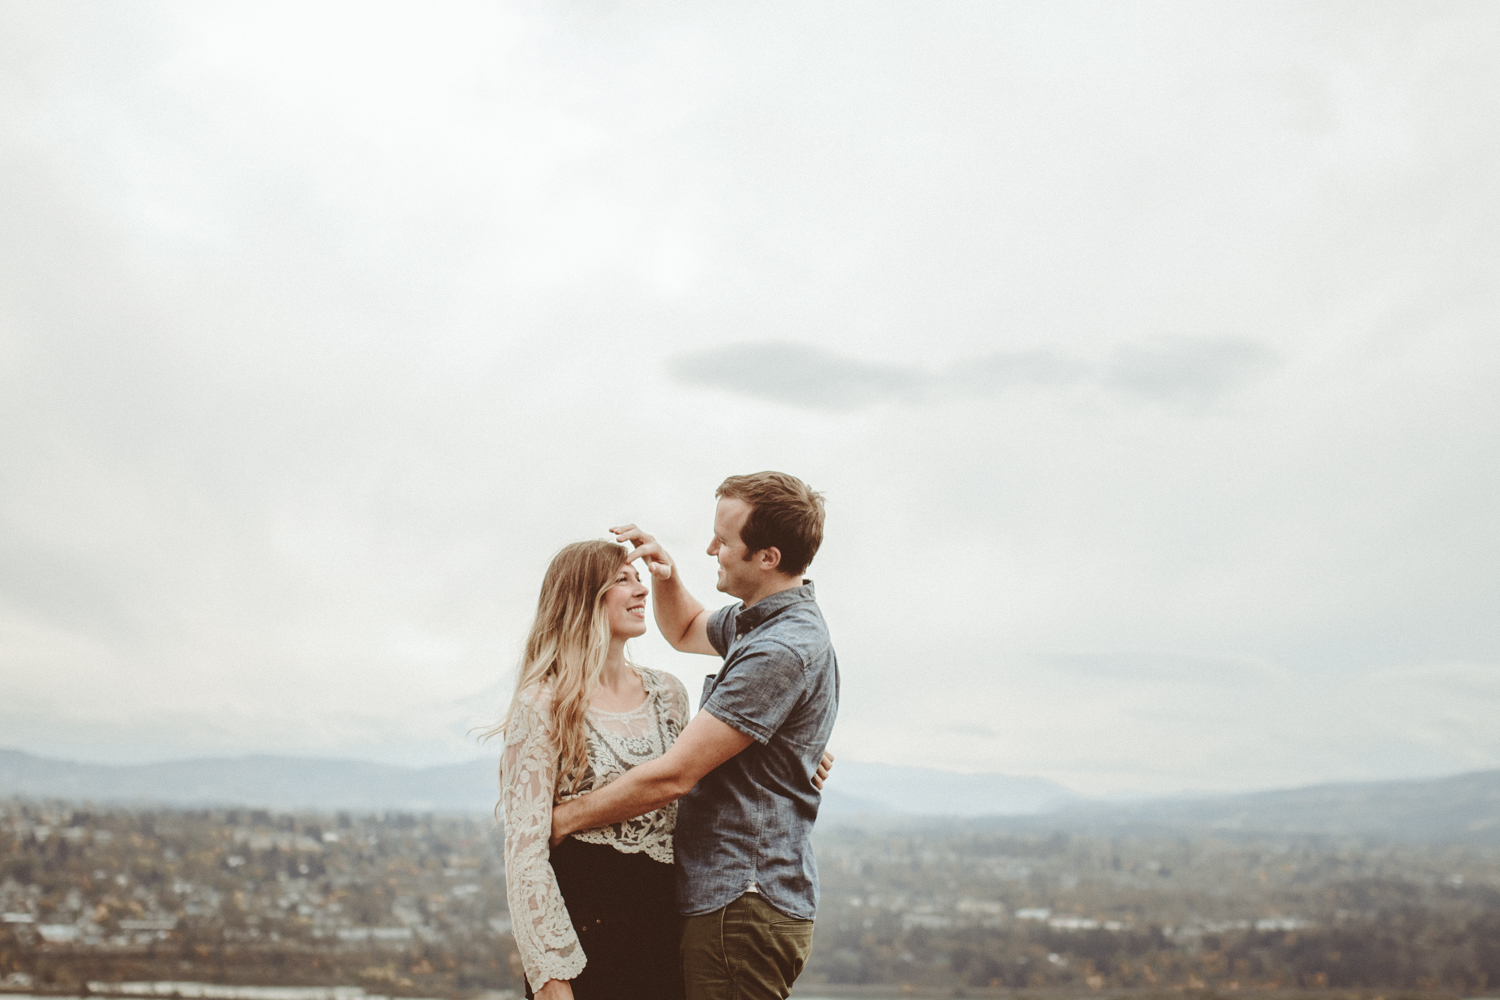
<svg viewBox="0 0 1500 1000"><path fill-rule="evenodd" d="M574 1000L684 1000L672 865L568 837L552 849L552 871L588 958Z"/></svg>

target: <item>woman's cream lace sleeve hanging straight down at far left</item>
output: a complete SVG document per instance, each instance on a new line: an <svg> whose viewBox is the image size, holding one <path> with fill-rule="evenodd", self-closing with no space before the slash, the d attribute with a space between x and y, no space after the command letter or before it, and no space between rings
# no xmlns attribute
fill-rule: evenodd
<svg viewBox="0 0 1500 1000"><path fill-rule="evenodd" d="M574 979L586 961L549 861L556 762L546 696L516 705L506 733L501 801L506 804L506 895L526 981Z"/></svg>

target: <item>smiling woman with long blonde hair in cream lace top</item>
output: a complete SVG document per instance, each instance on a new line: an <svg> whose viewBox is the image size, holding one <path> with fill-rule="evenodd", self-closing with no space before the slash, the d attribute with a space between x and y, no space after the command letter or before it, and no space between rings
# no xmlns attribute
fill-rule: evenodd
<svg viewBox="0 0 1500 1000"><path fill-rule="evenodd" d="M646 631L646 588L624 546L564 547L504 721L506 888L526 996L682 997L672 870L676 804L568 837L548 852L552 805L660 757L687 724L687 690L626 660Z"/></svg>

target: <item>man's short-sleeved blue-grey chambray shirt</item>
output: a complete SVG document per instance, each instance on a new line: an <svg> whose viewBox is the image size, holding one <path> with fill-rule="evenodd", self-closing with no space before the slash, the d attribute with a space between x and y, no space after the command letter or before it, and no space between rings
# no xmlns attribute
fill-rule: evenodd
<svg viewBox="0 0 1500 1000"><path fill-rule="evenodd" d="M752 886L788 916L818 910L813 774L838 715L838 661L813 582L708 619L724 658L699 708L754 742L678 805L676 898L684 916L729 906Z"/></svg>

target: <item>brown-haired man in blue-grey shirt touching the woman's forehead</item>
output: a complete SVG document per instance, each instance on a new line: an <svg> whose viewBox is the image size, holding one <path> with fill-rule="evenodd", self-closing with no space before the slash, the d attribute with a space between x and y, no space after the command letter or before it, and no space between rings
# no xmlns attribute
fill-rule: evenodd
<svg viewBox="0 0 1500 1000"><path fill-rule="evenodd" d="M732 475L717 492L718 589L708 612L672 558L614 528L652 574L656 621L682 652L723 657L699 714L662 757L552 811L552 843L681 799L675 855L688 1000L786 997L818 909L814 775L838 714L838 663L802 570L824 538L824 498L784 472Z"/></svg>

